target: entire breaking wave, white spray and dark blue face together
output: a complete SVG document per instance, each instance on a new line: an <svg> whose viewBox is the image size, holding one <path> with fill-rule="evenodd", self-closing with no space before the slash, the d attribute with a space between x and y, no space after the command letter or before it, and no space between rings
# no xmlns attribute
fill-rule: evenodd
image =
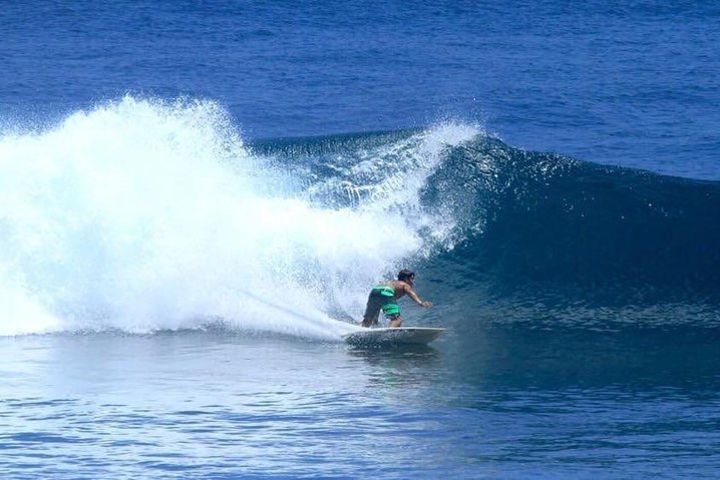
<svg viewBox="0 0 720 480"><path fill-rule="evenodd" d="M126 97L1 135L3 335L219 323L334 339L404 265L445 323L659 303L717 319L717 183L457 123L247 145L201 101Z"/></svg>

